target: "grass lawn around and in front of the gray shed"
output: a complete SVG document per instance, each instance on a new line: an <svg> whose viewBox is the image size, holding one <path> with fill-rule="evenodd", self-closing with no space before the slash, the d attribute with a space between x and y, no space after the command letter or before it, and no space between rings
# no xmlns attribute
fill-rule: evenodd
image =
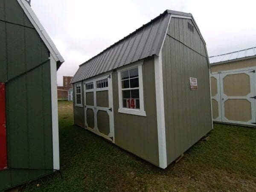
<svg viewBox="0 0 256 192"><path fill-rule="evenodd" d="M215 124L162 170L73 125L71 102L58 107L61 174L25 191L256 191L256 129Z"/></svg>

